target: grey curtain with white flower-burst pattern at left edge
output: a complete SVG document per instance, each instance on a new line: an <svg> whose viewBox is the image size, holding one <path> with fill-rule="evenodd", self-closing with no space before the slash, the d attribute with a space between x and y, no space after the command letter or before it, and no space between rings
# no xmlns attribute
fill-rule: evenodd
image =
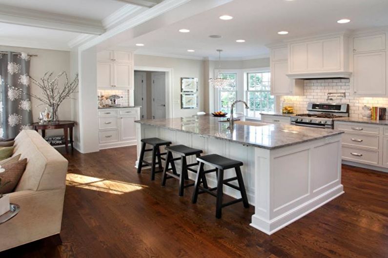
<svg viewBox="0 0 388 258"><path fill-rule="evenodd" d="M23 129L32 129L30 92L30 57L26 53L0 54L1 124L0 138L16 137ZM8 85L20 88L9 88Z"/></svg>

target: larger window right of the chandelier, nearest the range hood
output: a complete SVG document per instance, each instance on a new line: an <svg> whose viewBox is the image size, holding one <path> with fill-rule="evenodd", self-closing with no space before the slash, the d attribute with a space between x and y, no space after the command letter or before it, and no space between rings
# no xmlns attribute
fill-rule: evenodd
<svg viewBox="0 0 388 258"><path fill-rule="evenodd" d="M260 112L275 111L275 97L271 96L270 72L247 73L247 117L258 118Z"/></svg>

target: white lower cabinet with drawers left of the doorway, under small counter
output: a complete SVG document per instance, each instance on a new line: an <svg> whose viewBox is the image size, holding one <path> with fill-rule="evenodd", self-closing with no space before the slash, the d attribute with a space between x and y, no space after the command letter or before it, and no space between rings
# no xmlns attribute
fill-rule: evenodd
<svg viewBox="0 0 388 258"><path fill-rule="evenodd" d="M100 149L136 145L136 120L140 120L139 107L100 110Z"/></svg>

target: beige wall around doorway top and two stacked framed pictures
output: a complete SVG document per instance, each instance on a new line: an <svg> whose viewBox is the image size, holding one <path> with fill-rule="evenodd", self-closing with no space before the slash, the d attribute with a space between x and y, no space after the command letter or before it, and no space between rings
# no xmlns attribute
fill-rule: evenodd
<svg viewBox="0 0 388 258"><path fill-rule="evenodd" d="M174 117L187 117L196 114L198 111L204 111L204 61L189 60L180 58L166 58L147 55L135 55L136 66L163 67L173 69L173 114ZM181 109L181 77L198 78L198 97L199 108ZM148 78L148 75L147 75ZM167 85L166 85L167 87Z"/></svg>

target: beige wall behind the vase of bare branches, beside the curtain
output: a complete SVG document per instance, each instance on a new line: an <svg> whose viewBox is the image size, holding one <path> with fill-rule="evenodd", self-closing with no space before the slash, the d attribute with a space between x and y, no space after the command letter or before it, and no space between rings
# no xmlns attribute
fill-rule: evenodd
<svg viewBox="0 0 388 258"><path fill-rule="evenodd" d="M0 51L13 51L13 52L26 52L28 54L36 54L38 57L31 58L30 65L30 76L34 79L40 79L46 71L54 72L54 78L57 74L62 71L66 71L70 77L70 52L68 51L57 51L57 50L46 50L36 48L23 48L23 47L9 47L0 46ZM31 84L31 93L40 95L41 90L38 86ZM34 122L39 122L39 112L45 109L41 101L31 98L32 102L32 118ZM67 99L62 102L59 109L59 118L61 120L72 119L72 108L71 100ZM61 132L55 132L50 130L47 131L47 135L61 134ZM62 133L63 134L63 133Z"/></svg>

